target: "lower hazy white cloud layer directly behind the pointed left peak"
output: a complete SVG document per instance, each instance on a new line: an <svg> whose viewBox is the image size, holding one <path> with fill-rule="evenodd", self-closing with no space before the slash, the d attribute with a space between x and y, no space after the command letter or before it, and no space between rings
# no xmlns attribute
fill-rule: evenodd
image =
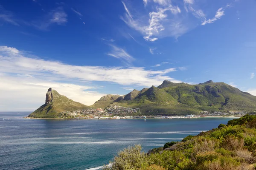
<svg viewBox="0 0 256 170"><path fill-rule="evenodd" d="M5 75L1 76L0 83L0 111L34 111L44 104L49 87L85 105L92 105L105 95L97 91L88 91L87 89L93 88L89 86L48 81L29 75Z"/></svg>

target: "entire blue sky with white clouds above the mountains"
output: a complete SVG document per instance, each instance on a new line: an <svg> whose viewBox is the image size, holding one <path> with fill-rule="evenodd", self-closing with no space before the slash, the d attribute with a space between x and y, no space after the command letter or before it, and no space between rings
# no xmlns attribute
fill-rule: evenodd
<svg viewBox="0 0 256 170"><path fill-rule="evenodd" d="M92 105L165 79L211 79L256 95L255 8L255 0L2 0L0 111L32 111L49 87Z"/></svg>

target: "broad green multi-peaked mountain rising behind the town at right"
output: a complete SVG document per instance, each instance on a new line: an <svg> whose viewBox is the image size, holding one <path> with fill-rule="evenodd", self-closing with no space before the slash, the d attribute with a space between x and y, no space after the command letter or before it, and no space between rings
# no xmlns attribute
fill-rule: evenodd
<svg viewBox="0 0 256 170"><path fill-rule="evenodd" d="M138 107L144 114L256 111L256 96L242 92L224 82L209 80L198 85L189 85L164 80L157 87L143 88L141 91L133 90L117 99L101 101L102 106L110 104Z"/></svg>

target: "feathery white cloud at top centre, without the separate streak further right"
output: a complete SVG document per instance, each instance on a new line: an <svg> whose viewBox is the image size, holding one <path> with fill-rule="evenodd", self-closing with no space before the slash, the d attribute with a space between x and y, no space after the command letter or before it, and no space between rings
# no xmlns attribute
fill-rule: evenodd
<svg viewBox="0 0 256 170"><path fill-rule="evenodd" d="M144 4L145 2L148 1L144 1ZM156 11L149 12L148 22L145 22L145 16L132 17L125 3L122 3L124 4L126 13L121 19L131 28L140 31L146 41L153 42L158 40L157 37L179 37L186 32L180 20L174 17L181 13L180 8L178 6L172 6L169 0L154 0L154 3L162 6L156 7ZM172 22L170 23L169 19L171 18Z"/></svg>

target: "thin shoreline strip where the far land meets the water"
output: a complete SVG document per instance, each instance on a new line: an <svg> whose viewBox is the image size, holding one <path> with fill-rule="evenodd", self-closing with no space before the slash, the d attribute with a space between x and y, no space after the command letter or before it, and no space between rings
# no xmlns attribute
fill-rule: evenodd
<svg viewBox="0 0 256 170"><path fill-rule="evenodd" d="M236 117L236 116L204 116L204 117L187 117L187 118L184 117L184 118L172 118L172 119L197 119L197 118L241 118L241 116L239 116L239 117ZM84 119L87 119L87 118L35 118L35 117L24 117L24 119L84 120ZM141 119L143 119L143 118L141 118ZM166 118L146 118L146 119L166 119ZM87 119L87 120L122 120L122 119ZM127 120L127 119L125 119L125 120Z"/></svg>

